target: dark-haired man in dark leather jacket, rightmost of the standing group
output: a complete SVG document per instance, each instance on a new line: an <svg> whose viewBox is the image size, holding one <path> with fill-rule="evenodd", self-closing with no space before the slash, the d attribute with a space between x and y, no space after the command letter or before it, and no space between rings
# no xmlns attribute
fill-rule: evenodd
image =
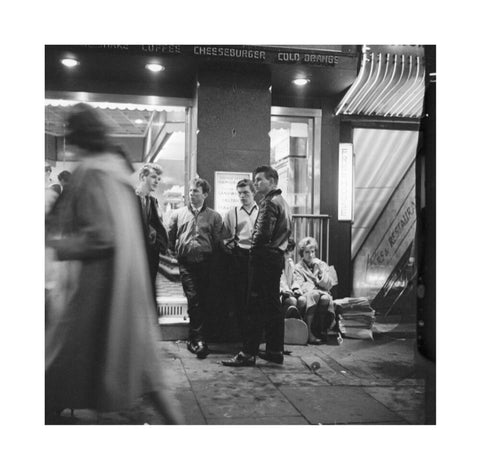
<svg viewBox="0 0 480 469"><path fill-rule="evenodd" d="M277 189L278 173L270 166L254 171L254 183L262 194L252 234L247 333L242 350L225 366L254 366L256 356L283 363L284 315L280 303L280 276L284 253L292 233L290 208ZM266 351L258 348L265 329Z"/></svg>

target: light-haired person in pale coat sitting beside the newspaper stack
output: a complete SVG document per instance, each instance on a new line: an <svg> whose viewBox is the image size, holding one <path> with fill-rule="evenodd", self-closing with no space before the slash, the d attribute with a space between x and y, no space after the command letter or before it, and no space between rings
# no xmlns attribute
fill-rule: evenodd
<svg viewBox="0 0 480 469"><path fill-rule="evenodd" d="M303 238L298 244L302 259L293 271L293 281L304 300L300 298L306 303L304 317L311 344L326 340L328 331L335 326L335 309L330 290L338 283L333 267L315 257L317 248L314 238Z"/></svg>

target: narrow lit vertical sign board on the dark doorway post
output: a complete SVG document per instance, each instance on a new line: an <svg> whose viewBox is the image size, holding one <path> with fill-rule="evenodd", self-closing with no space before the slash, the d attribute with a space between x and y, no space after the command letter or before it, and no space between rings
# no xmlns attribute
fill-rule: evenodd
<svg viewBox="0 0 480 469"><path fill-rule="evenodd" d="M338 220L353 221L353 144L340 143L338 151Z"/></svg>

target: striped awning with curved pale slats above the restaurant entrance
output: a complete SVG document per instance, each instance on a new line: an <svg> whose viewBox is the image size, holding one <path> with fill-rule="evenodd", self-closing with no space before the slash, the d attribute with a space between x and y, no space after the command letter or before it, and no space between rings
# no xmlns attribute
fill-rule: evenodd
<svg viewBox="0 0 480 469"><path fill-rule="evenodd" d="M425 93L424 58L368 50L363 48L358 76L335 115L420 118Z"/></svg>

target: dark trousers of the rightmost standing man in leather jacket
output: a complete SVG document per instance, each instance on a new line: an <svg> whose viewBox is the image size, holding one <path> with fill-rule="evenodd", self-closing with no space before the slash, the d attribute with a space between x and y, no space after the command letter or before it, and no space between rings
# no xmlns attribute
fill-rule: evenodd
<svg viewBox="0 0 480 469"><path fill-rule="evenodd" d="M279 251L258 250L250 256L245 353L258 353L263 331L267 351L283 352L285 323L280 303L280 276L284 264L284 256Z"/></svg>

